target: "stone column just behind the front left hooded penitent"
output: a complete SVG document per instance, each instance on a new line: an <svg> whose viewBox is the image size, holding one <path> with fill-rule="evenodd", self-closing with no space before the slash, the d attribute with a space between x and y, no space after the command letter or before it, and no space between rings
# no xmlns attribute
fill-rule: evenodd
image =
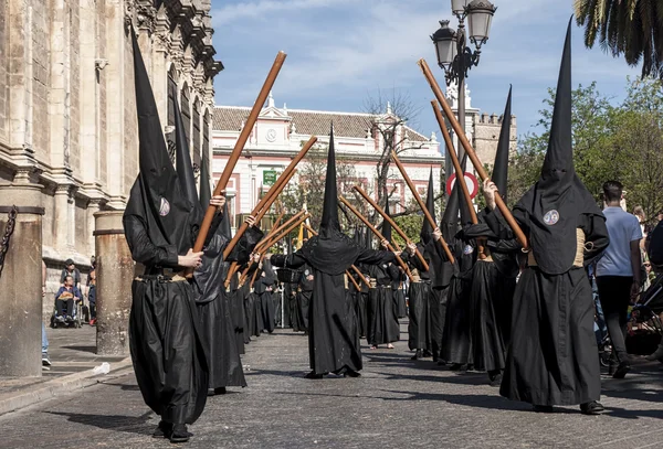
<svg viewBox="0 0 663 449"><path fill-rule="evenodd" d="M97 354L129 353L129 311L134 259L122 225L124 211L97 212L95 257L97 274Z"/></svg>

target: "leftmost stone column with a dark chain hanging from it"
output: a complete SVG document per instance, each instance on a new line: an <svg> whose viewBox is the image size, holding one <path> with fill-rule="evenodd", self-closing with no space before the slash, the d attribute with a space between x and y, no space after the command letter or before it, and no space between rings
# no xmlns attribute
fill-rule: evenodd
<svg viewBox="0 0 663 449"><path fill-rule="evenodd" d="M41 376L43 185L0 184L0 238L19 213L0 275L0 376Z"/></svg>

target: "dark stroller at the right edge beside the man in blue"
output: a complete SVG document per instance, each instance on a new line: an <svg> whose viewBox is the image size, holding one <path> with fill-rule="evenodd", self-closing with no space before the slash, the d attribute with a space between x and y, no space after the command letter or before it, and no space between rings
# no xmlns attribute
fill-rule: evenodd
<svg viewBox="0 0 663 449"><path fill-rule="evenodd" d="M649 355L656 351L663 335L663 275L642 293L640 302L631 310L627 350L630 354Z"/></svg>

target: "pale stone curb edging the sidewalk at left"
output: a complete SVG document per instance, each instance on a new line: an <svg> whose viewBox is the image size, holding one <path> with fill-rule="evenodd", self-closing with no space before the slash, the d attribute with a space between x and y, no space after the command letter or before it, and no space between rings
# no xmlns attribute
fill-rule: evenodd
<svg viewBox="0 0 663 449"><path fill-rule="evenodd" d="M86 370L81 373L74 373L52 381L44 382L36 389L17 391L13 396L0 398L0 416L25 408L33 404L51 399L55 396L65 396L75 389L108 381L110 378L124 375L127 368L133 368L131 357L110 365L112 371L108 374L95 374L93 370ZM9 393L8 395L11 395Z"/></svg>

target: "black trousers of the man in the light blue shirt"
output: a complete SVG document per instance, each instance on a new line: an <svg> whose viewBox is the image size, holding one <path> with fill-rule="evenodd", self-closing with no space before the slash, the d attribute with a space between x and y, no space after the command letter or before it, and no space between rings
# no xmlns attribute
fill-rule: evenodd
<svg viewBox="0 0 663 449"><path fill-rule="evenodd" d="M599 299L618 362L628 361L625 335L632 285L632 276L597 276Z"/></svg>

